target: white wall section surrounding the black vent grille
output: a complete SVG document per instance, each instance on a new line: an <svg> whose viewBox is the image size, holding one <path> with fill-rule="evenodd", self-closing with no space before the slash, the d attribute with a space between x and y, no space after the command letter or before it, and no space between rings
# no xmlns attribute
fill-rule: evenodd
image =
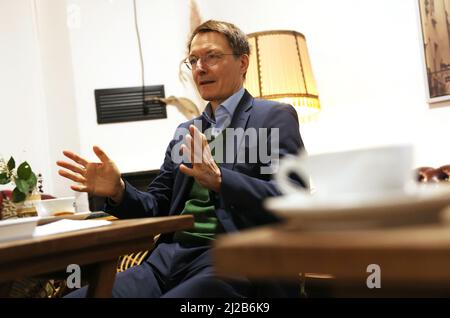
<svg viewBox="0 0 450 318"><path fill-rule="evenodd" d="M95 159L91 149L97 144L122 172L159 169L175 128L186 120L175 108L168 107L162 120L98 125L96 119L94 89L141 85L132 1L70 0L68 5L80 17L70 38L81 153ZM188 2L137 1L137 12L145 84L164 84L166 96L186 96L178 65L186 56Z"/></svg>

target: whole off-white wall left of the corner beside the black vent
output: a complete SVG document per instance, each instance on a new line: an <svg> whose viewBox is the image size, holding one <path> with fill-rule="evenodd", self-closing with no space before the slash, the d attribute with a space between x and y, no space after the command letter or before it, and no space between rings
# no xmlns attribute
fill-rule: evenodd
<svg viewBox="0 0 450 318"><path fill-rule="evenodd" d="M44 191L59 197L74 193L55 162L63 149L80 148L65 14L63 1L0 2L0 154L28 161Z"/></svg>

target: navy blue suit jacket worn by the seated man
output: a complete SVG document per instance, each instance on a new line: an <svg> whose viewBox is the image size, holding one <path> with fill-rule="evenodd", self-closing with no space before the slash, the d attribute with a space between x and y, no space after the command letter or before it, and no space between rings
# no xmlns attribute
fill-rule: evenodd
<svg viewBox="0 0 450 318"><path fill-rule="evenodd" d="M202 123L202 130L208 127L203 116L181 124L187 129L194 121ZM197 123L198 123L197 122ZM296 154L303 148L299 124L295 109L287 104L253 98L247 91L236 107L229 128L267 128L271 136L272 128L279 129L279 155ZM259 136L258 136L259 138ZM234 154L249 152L251 145L238 147L235 143ZM164 163L159 175L150 184L146 192L125 185L123 201L120 205L106 205L106 211L119 218L138 218L180 214L191 190L193 178L179 171L179 164L171 158L172 149L180 143L174 138L167 147ZM269 147L270 148L270 147ZM253 149L254 151L255 149ZM246 157L248 158L248 156ZM268 166L258 158L254 163L226 162L220 164L222 185L216 196L216 215L227 232L274 222L277 218L263 208L263 200L280 195L277 185L270 174L261 174L260 168Z"/></svg>

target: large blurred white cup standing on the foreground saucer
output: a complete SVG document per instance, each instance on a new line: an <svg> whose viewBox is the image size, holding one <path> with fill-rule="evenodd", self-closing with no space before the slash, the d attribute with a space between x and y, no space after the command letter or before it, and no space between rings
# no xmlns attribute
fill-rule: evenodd
<svg viewBox="0 0 450 318"><path fill-rule="evenodd" d="M405 191L414 185L413 147L392 145L342 152L286 157L280 162L276 181L284 194L309 190L290 181L297 174L313 184L315 197L374 196Z"/></svg>

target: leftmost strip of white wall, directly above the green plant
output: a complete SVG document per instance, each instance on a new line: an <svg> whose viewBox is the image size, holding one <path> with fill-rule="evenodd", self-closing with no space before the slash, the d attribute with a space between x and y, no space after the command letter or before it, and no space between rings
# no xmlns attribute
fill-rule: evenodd
<svg viewBox="0 0 450 318"><path fill-rule="evenodd" d="M30 1L0 1L0 156L28 161L52 189L36 21Z"/></svg>

